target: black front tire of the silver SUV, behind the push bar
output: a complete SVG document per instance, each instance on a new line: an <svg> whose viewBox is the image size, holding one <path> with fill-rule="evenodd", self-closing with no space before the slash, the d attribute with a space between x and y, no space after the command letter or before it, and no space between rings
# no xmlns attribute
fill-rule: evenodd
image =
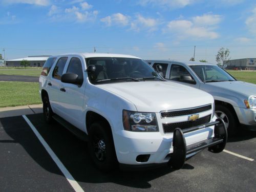
<svg viewBox="0 0 256 192"><path fill-rule="evenodd" d="M225 122L228 135L236 135L238 131L238 120L236 114L234 114L229 108L223 105L215 106L215 114L218 118L223 119Z"/></svg>

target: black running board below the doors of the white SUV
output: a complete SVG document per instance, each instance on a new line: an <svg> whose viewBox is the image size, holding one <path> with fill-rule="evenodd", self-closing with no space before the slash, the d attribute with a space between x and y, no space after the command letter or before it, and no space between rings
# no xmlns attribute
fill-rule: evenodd
<svg viewBox="0 0 256 192"><path fill-rule="evenodd" d="M72 125L62 117L58 115L54 115L53 119L57 121L59 124L61 124L62 126L64 126L66 129L68 129L72 134L74 134L79 139L83 141L88 141L88 135L86 133L82 132L76 126Z"/></svg>

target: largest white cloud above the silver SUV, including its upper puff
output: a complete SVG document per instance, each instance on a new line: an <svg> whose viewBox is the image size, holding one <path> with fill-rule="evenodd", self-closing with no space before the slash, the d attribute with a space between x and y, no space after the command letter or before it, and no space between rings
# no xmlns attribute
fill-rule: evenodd
<svg viewBox="0 0 256 192"><path fill-rule="evenodd" d="M204 14L190 20L177 19L167 23L164 32L177 36L179 39L216 39L219 34L214 30L221 22L220 15Z"/></svg>

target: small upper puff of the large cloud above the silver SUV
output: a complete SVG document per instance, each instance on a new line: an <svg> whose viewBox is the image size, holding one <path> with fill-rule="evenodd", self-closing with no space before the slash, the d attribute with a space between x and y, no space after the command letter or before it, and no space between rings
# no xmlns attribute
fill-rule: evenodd
<svg viewBox="0 0 256 192"><path fill-rule="evenodd" d="M221 22L221 15L203 14L202 16L193 17L193 23L197 26L217 25Z"/></svg>

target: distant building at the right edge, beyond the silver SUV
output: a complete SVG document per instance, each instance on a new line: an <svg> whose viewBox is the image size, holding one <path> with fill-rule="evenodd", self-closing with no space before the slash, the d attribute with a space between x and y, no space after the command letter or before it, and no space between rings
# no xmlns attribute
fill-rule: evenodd
<svg viewBox="0 0 256 192"><path fill-rule="evenodd" d="M232 59L223 61L227 69L256 70L256 58Z"/></svg>

